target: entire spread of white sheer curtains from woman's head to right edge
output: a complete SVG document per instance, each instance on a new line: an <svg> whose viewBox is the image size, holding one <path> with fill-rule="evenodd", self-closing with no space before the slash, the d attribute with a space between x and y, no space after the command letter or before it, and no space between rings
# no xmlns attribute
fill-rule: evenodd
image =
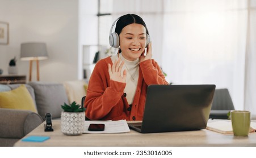
<svg viewBox="0 0 256 158"><path fill-rule="evenodd" d="M113 4L114 19L135 13L145 20L153 58L169 82L228 88L236 109L256 113L256 0L113 0Z"/></svg>

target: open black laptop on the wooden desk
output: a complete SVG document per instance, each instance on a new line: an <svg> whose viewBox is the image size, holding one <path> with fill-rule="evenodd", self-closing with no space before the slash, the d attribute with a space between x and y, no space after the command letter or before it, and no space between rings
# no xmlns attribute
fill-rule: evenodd
<svg viewBox="0 0 256 158"><path fill-rule="evenodd" d="M144 117L128 124L140 133L205 129L215 85L150 85Z"/></svg>

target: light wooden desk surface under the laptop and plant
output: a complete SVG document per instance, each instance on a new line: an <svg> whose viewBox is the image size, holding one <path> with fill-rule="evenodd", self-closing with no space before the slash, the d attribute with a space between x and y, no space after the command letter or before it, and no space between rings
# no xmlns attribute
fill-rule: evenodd
<svg viewBox="0 0 256 158"><path fill-rule="evenodd" d="M150 134L131 130L129 133L68 136L61 132L60 121L52 122L52 132L45 132L44 124L45 122L26 137L42 135L49 136L50 139L41 143L19 140L14 146L256 146L256 133L250 133L248 137L234 137L206 129Z"/></svg>

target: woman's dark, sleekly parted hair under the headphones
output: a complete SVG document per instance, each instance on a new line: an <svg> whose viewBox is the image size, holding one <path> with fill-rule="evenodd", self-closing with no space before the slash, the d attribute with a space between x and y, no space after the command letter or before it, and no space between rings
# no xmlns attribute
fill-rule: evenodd
<svg viewBox="0 0 256 158"><path fill-rule="evenodd" d="M133 23L141 24L146 28L146 24L140 16L138 16L136 14L126 14L126 15L119 17L119 19L117 20L115 32L119 36L119 34L121 33L121 31L124 27L126 27L129 24L133 24ZM146 28L146 34L149 34L148 28ZM121 52L120 48L119 48L119 50L120 50L119 52Z"/></svg>

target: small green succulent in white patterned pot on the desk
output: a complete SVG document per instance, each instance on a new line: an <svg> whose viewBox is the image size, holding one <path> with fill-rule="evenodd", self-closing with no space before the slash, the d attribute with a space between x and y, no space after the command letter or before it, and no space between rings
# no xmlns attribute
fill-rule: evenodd
<svg viewBox="0 0 256 158"><path fill-rule="evenodd" d="M61 131L66 135L80 135L85 126L85 108L76 102L61 106Z"/></svg>

